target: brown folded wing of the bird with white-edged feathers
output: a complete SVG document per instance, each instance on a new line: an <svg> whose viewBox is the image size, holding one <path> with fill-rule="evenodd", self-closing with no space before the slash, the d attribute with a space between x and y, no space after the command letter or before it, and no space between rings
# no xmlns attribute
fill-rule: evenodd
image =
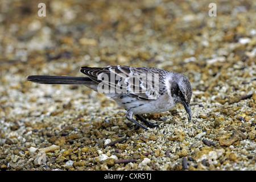
<svg viewBox="0 0 256 182"><path fill-rule="evenodd" d="M80 71L98 84L108 85L112 92L126 93L142 100L155 100L164 92L167 71L152 67L124 65L105 68L81 67Z"/></svg>

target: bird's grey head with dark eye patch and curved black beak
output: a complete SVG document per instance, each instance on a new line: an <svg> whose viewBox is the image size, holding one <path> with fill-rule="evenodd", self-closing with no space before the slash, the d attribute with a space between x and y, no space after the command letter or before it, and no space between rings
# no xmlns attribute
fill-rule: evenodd
<svg viewBox="0 0 256 182"><path fill-rule="evenodd" d="M175 102L183 104L188 115L188 121L191 121L190 100L192 96L191 84L188 78L177 74L171 81L171 96Z"/></svg>

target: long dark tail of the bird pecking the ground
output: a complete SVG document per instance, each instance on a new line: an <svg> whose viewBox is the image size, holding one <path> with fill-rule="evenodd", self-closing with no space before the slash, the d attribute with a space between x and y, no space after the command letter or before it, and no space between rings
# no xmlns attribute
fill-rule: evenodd
<svg viewBox="0 0 256 182"><path fill-rule="evenodd" d="M38 84L70 84L70 85L85 85L92 80L89 77L75 77L75 76L44 76L31 75L27 76L28 81L36 82Z"/></svg>

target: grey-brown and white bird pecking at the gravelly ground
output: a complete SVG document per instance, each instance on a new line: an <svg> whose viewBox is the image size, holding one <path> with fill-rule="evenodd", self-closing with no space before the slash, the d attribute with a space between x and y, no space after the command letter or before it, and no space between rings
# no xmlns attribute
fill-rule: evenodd
<svg viewBox="0 0 256 182"><path fill-rule="evenodd" d="M147 121L142 114L170 111L177 104L184 106L188 121L191 121L192 87L188 78L180 73L127 65L81 67L80 72L86 76L31 75L27 76L27 80L38 84L85 85L104 93L126 110L125 117L130 122L144 130L159 125Z"/></svg>

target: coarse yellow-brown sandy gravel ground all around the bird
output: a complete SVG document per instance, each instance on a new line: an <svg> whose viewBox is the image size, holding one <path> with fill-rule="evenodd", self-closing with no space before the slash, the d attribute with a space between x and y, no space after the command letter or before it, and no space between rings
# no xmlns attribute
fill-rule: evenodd
<svg viewBox="0 0 256 182"><path fill-rule="evenodd" d="M1 170L256 169L255 1L44 2L0 5ZM144 131L85 86L26 81L107 65L187 76L192 121L177 105Z"/></svg>

